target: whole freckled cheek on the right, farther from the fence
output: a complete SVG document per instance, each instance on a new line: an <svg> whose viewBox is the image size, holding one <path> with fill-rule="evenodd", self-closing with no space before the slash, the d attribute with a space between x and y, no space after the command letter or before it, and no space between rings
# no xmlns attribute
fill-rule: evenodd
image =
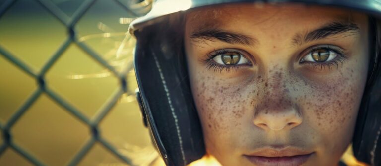
<svg viewBox="0 0 381 166"><path fill-rule="evenodd" d="M350 143L359 110L366 71L343 68L319 82L306 82L299 103L304 120L316 130L320 141L329 144L330 152L343 151Z"/></svg>

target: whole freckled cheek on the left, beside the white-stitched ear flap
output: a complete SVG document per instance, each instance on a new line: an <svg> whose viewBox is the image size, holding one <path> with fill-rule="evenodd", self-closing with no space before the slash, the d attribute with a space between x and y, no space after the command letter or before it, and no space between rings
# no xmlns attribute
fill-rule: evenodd
<svg viewBox="0 0 381 166"><path fill-rule="evenodd" d="M192 80L192 91L200 117L205 146L208 153L217 159L234 154L235 148L250 139L237 138L247 132L250 116L247 103L253 103L243 90L240 81L228 82L213 76L198 73ZM244 124L245 123L245 124ZM222 156L219 156L222 155Z"/></svg>

